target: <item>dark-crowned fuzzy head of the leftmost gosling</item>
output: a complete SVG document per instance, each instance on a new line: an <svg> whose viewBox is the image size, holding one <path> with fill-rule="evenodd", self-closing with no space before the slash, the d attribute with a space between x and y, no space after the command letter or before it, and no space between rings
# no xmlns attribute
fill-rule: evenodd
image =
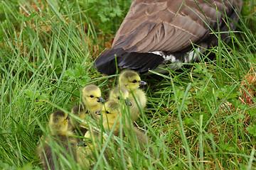
<svg viewBox="0 0 256 170"><path fill-rule="evenodd" d="M63 135L68 131L68 114L63 111L55 111L50 115L50 132L55 135Z"/></svg>

